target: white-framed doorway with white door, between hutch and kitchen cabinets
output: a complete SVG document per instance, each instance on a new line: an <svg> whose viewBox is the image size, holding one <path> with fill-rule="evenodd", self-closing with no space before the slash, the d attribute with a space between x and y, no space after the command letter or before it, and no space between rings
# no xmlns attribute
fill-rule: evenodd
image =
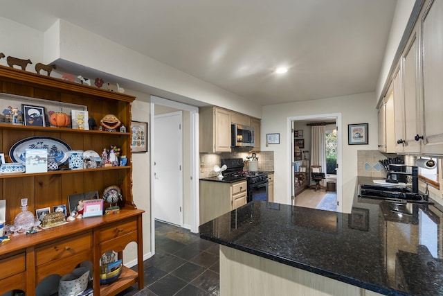
<svg viewBox="0 0 443 296"><path fill-rule="evenodd" d="M155 218L157 217L164 217L159 220L166 220L168 223L190 229L191 232L198 232L198 112L198 107L151 96L150 217L152 254L155 254ZM172 127L164 130L165 125L170 124ZM174 129L173 127L177 125L179 127ZM178 134L181 135L182 141L177 141ZM173 153L168 153L170 148L174 148ZM177 155L181 156L177 157ZM169 160L172 163L169 163ZM165 188L179 190L181 198L179 200L165 200L162 198L162 191ZM169 202L169 204L162 204L163 201ZM170 221L170 219L172 220Z"/></svg>

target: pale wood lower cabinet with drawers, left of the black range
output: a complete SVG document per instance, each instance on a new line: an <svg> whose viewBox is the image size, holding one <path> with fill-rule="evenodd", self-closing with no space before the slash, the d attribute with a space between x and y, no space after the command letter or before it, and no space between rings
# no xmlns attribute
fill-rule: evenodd
<svg viewBox="0 0 443 296"><path fill-rule="evenodd" d="M246 180L226 183L200 180L200 225L246 204Z"/></svg>

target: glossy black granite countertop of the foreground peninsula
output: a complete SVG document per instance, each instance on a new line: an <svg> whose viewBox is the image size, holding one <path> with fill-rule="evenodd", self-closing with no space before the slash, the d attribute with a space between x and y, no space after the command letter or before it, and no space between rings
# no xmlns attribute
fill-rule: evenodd
<svg viewBox="0 0 443 296"><path fill-rule="evenodd" d="M356 194L351 214L253 201L215 220L201 238L384 295L443 295L440 205Z"/></svg>

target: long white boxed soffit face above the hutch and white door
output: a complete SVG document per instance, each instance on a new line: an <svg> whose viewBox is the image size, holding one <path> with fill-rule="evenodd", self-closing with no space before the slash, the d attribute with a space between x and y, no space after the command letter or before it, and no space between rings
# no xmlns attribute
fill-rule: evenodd
<svg viewBox="0 0 443 296"><path fill-rule="evenodd" d="M172 94L179 94L208 103L208 105L226 107L257 118L261 116L260 106L251 104L244 98L67 21L57 21L46 31L45 40L60 40L58 44L53 42L53 45L60 46L58 53L61 60L84 65ZM52 52L57 53L57 51ZM52 55L51 58L56 57ZM48 62L52 61L46 60L46 63Z"/></svg>

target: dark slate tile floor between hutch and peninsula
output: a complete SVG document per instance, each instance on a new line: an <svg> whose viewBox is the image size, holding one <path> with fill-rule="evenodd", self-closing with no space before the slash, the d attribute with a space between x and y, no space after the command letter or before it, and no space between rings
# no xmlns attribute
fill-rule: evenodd
<svg viewBox="0 0 443 296"><path fill-rule="evenodd" d="M220 295L217 243L159 221L155 238L156 254L143 262L145 288L134 285L117 296Z"/></svg>

